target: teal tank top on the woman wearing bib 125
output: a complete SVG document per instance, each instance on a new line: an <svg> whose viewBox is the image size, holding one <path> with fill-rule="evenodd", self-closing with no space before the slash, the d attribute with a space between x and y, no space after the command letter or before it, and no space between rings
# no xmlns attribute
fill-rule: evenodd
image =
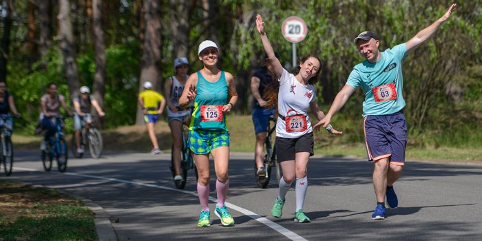
<svg viewBox="0 0 482 241"><path fill-rule="evenodd" d="M227 131L226 116L222 113L222 106L227 104L228 84L224 71L218 81L211 83L198 74L194 111L191 118L191 130Z"/></svg>

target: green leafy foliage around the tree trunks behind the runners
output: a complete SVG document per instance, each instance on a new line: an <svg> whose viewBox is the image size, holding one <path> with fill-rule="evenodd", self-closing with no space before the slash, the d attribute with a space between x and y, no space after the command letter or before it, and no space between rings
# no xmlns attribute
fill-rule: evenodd
<svg viewBox="0 0 482 241"><path fill-rule="evenodd" d="M21 1L20 1L21 2ZM25 48L26 4L15 3L17 12L12 29L12 50L9 59L8 88L16 97L17 105L25 113L25 119L16 125L29 132L38 117L38 100L44 86L50 81L59 83L59 92L67 93L64 81L63 62L54 42L48 56L32 66L27 59L30 53ZM103 8L109 14L105 18L106 67L105 86L105 127L130 125L136 114L136 96L140 75L141 1L107 1ZM189 1L187 1L189 2ZM170 38L170 6L163 4L162 32L162 78L174 74L172 50L180 43ZM408 120L410 134L415 143L427 145L450 145L464 143L461 138L447 138L441 129L470 135L463 127L481 126L481 31L482 14L477 1L457 1L457 11L441 25L432 39L412 52L404 61L404 112ZM449 3L427 1L368 1L368 0L306 0L306 1L240 1L222 0L216 6L216 16L205 18L202 1L187 4L189 8L189 61L191 72L202 67L198 61L197 48L200 41L209 37L208 19L215 19L218 44L220 47L220 67L233 73L237 79L240 96L249 96L249 77L255 67L262 62L264 51L255 29L255 15L261 14L266 32L275 52L280 55L284 66L291 68L292 45L280 31L286 17L302 17L308 25L308 35L297 43L298 59L305 54L315 54L322 59L322 72L316 86L317 100L326 112L337 92L344 86L346 78L357 63L364 61L359 56L353 38L364 30L377 32L381 51L408 41L417 32L439 19L449 7ZM80 11L80 10L79 10ZM81 11L80 11L81 12ZM106 14L107 16L107 14ZM78 31L88 23L83 15L77 15ZM85 34L90 36L90 34ZM92 87L95 62L89 37L78 43L77 64L82 85ZM87 44L83 46L82 44ZM46 65L42 65L46 63ZM453 98L454 90L461 92L461 98ZM240 101L247 103L248 98ZM362 115L364 93L357 90L337 116L337 122L344 129L352 130ZM247 107L246 104L241 105ZM243 109L249 111L249 109ZM453 113L460 114L453 118ZM111 118L109 116L122 116ZM451 118L452 117L452 118ZM350 126L349 126L350 125ZM358 127L357 127L358 128ZM357 129L353 129L355 132ZM350 132L345 132L350 135ZM423 137L423 135L433 138ZM360 134L347 137L346 141L357 142ZM438 141L439 144L433 140ZM465 139L467 140L467 139ZM474 140L478 143L479 140ZM425 145L425 144L423 144Z"/></svg>

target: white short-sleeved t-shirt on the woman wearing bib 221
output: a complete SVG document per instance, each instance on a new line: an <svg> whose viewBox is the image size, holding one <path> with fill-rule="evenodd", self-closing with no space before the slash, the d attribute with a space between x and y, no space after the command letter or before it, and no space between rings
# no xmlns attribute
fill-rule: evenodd
<svg viewBox="0 0 482 241"><path fill-rule="evenodd" d="M310 103L316 101L315 87L304 85L297 81L293 74L283 69L280 81L280 91L278 92L277 107L278 112L285 116L285 120L278 116L276 122L276 136L282 138L298 138L304 134L313 132L308 118ZM306 123L297 118L288 121L289 116L302 115L306 118ZM300 116L302 118L302 116ZM288 123L288 128L286 128ZM288 130L292 131L289 132ZM302 129L302 131L299 131ZM294 131L293 131L294 130Z"/></svg>

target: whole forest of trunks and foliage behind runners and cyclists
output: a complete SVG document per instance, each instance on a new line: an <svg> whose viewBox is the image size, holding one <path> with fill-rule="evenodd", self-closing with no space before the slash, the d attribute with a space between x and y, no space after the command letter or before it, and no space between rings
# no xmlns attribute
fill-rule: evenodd
<svg viewBox="0 0 482 241"><path fill-rule="evenodd" d="M326 112L353 66L363 61L353 45L372 30L380 50L408 41L439 19L450 1L437 0L1 0L0 81L8 84L23 118L16 132L33 134L39 99L50 82L67 98L91 87L105 112L104 129L142 125L136 98L145 81L163 93L173 61L187 56L190 72L202 67L198 45L220 47L219 67L235 76L240 96L235 114L249 114L251 74L264 52L255 29L261 14L266 32L286 69L291 43L281 33L286 17L308 26L298 57L322 59L317 100ZM404 113L409 145L482 148L482 2L457 1L457 11L432 39L404 61ZM340 111L346 143L361 143L362 102L358 89ZM69 127L72 128L72 127Z"/></svg>

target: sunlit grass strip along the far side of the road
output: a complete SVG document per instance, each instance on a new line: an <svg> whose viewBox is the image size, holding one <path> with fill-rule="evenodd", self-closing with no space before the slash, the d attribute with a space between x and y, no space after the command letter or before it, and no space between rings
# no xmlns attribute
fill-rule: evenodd
<svg viewBox="0 0 482 241"><path fill-rule="evenodd" d="M331 136L323 129L315 133L315 154L366 158L363 119L353 120L339 114L331 122L335 129L343 131L344 134ZM251 116L229 115L228 126L231 134L231 151L253 152L255 134ZM478 128L478 123L467 123L452 129L434 126L431 129L424 129L420 134L409 133L407 158L482 162L482 132ZM150 141L144 126L119 127L102 133L105 149L146 152L150 150ZM158 123L156 133L161 149L170 151L171 134L167 123ZM41 137L16 133L13 140L16 148L38 149ZM70 143L70 135L67 135L67 143Z"/></svg>

